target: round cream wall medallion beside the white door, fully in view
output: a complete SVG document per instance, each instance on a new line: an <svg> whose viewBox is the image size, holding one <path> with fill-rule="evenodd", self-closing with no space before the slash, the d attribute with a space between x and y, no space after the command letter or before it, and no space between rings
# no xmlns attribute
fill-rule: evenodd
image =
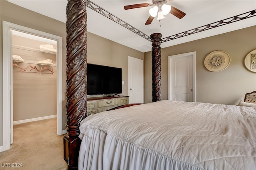
<svg viewBox="0 0 256 170"><path fill-rule="evenodd" d="M204 59L204 66L212 72L226 69L230 64L230 56L225 51L212 51Z"/></svg>

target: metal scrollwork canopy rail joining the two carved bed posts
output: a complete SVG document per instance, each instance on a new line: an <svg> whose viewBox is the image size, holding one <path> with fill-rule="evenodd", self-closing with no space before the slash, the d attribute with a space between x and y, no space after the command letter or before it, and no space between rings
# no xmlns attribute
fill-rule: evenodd
<svg viewBox="0 0 256 170"><path fill-rule="evenodd" d="M131 26L130 24L128 24L127 22L125 22L124 20L121 20L120 18L118 18L117 16L114 16L113 14L111 14L110 12L108 12L107 10L104 10L103 8L101 8L100 6L94 4L93 2L91 2L90 0L86 0L86 6L88 8L91 8L92 10L102 14L103 16L109 18L110 20L116 22L117 24L120 24L121 26L127 28L128 30L134 32L135 34L138 34L139 36L145 38L146 40L150 41L150 37L147 36L146 34L144 34L143 32L141 32L140 30L138 30L137 28L134 28L133 26Z"/></svg>

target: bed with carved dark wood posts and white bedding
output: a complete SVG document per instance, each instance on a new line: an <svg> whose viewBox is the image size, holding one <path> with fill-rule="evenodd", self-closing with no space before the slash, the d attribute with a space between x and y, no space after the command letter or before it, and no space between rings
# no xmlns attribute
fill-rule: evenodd
<svg viewBox="0 0 256 170"><path fill-rule="evenodd" d="M152 38L152 103L86 117L86 1L67 4L68 169L256 169L256 109L161 101L161 34Z"/></svg>

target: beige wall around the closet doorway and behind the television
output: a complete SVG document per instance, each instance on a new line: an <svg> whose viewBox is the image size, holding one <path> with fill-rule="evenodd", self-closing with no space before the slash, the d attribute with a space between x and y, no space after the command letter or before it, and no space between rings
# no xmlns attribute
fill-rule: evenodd
<svg viewBox="0 0 256 170"><path fill-rule="evenodd" d="M63 126L66 122L66 23L54 20L41 14L16 6L6 0L0 0L0 34L2 21L11 22L49 34L62 37L62 94L63 94ZM0 36L0 86L2 87L2 36ZM128 95L128 56L144 59L144 54L124 45L88 33L88 63L108 65L122 68L123 95ZM0 89L0 106L2 108L2 88ZM0 146L2 146L2 109L0 110ZM65 127L63 127L65 129Z"/></svg>

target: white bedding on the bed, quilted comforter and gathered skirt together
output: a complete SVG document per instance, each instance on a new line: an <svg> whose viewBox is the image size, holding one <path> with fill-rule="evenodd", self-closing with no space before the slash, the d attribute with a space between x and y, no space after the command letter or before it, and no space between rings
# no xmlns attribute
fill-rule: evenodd
<svg viewBox="0 0 256 170"><path fill-rule="evenodd" d="M256 170L256 108L158 101L91 115L79 169Z"/></svg>

